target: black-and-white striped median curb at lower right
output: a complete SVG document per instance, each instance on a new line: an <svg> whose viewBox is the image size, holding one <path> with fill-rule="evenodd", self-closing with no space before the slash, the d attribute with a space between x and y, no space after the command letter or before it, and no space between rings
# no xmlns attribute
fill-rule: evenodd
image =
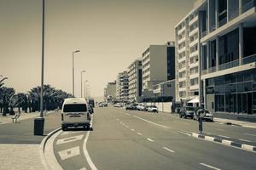
<svg viewBox="0 0 256 170"><path fill-rule="evenodd" d="M230 145L230 146L239 148L241 150L249 150L249 151L256 152L256 146L249 145L249 144L241 144L241 143L233 142L231 140L213 138L211 136L206 136L198 133L192 133L191 136L194 138L204 139L204 140L215 142L218 144Z"/></svg>

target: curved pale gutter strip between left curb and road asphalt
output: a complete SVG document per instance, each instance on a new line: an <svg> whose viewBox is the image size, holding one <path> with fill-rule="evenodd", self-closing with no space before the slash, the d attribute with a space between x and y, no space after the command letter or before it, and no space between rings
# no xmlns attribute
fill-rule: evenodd
<svg viewBox="0 0 256 170"><path fill-rule="evenodd" d="M59 132L56 132L53 134L48 141L46 142L45 149L44 149L44 156L46 158L47 165L50 167L50 169L55 169L55 170L62 170L61 165L57 161L55 157L55 152L54 152L54 141L57 136L61 134L61 130Z"/></svg>

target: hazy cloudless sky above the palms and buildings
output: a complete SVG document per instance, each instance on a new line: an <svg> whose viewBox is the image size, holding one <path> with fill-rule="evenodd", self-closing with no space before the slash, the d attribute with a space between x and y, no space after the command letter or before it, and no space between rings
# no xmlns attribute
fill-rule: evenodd
<svg viewBox="0 0 256 170"><path fill-rule="evenodd" d="M194 0L45 0L44 82L75 94L80 71L90 94L102 96L149 44L175 40L174 26ZM40 85L42 0L0 0L0 75L26 92Z"/></svg>

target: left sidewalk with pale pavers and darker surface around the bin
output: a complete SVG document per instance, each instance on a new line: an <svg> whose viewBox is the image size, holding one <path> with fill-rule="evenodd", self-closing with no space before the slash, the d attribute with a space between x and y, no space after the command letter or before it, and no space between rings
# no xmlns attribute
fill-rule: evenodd
<svg viewBox="0 0 256 170"><path fill-rule="evenodd" d="M39 113L21 113L17 123L10 117L0 116L0 169L44 170L40 155L40 144L45 135L61 126L60 112L49 112L44 116L44 136L33 135L33 117Z"/></svg>

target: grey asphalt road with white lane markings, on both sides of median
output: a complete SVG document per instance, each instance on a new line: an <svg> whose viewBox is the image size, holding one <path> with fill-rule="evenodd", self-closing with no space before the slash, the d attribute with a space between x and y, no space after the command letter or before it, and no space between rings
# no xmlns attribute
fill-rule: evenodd
<svg viewBox="0 0 256 170"><path fill-rule="evenodd" d="M193 132L198 122L170 114L96 108L93 131L60 132L53 148L63 169L256 169L255 152L186 134ZM204 122L204 132L256 142L253 128Z"/></svg>

